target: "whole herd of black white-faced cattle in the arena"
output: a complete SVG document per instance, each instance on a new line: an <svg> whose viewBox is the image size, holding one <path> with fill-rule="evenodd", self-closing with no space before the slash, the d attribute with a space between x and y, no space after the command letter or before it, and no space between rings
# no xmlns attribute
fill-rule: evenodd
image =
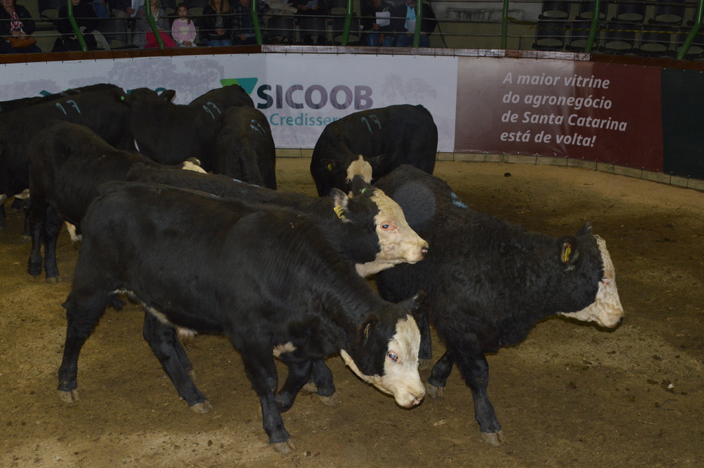
<svg viewBox="0 0 704 468"><path fill-rule="evenodd" d="M622 322L591 225L555 239L472 210L432 175L437 129L422 106L330 123L311 158L313 198L276 190L268 120L241 87L184 105L174 95L96 84L0 103L0 229L5 202L24 200L27 271L43 267L47 282L61 278L61 226L81 239L61 400L78 399L80 350L106 307L128 300L144 306L144 339L196 412L210 403L182 339L230 339L279 452L294 449L282 412L303 388L337 403L335 354L401 407L440 398L457 365L484 441L498 445L485 353L551 315ZM423 384L431 326L446 352ZM280 387L275 358L288 368Z"/></svg>

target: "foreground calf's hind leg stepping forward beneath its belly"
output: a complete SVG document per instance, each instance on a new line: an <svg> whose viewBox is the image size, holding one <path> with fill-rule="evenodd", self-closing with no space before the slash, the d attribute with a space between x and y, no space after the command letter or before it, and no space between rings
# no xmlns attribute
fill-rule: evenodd
<svg viewBox="0 0 704 468"><path fill-rule="evenodd" d="M168 324L160 322L151 313L144 315L142 336L149 343L151 351L161 362L161 367L174 384L178 396L186 400L191 410L206 413L212 407L203 393L196 387L189 375L193 369L186 351L176 336L176 331Z"/></svg>

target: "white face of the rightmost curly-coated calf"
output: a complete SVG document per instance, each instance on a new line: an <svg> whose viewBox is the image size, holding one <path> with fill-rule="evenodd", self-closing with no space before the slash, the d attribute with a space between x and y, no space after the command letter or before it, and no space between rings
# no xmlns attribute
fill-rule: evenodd
<svg viewBox="0 0 704 468"><path fill-rule="evenodd" d="M616 288L616 272L611 261L611 255L606 250L606 241L599 236L595 237L601 251L601 261L604 265L604 277L599 282L596 299L591 305L579 310L579 312L560 313L565 315L565 317L572 317L583 322L596 322L602 327L614 328L619 324L621 317L623 317L623 306Z"/></svg>

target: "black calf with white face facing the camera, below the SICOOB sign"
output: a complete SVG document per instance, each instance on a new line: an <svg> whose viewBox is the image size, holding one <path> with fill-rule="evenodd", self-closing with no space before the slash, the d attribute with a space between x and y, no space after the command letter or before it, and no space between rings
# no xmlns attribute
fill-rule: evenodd
<svg viewBox="0 0 704 468"><path fill-rule="evenodd" d="M373 183L401 164L432 174L437 146L437 127L423 106L361 110L323 129L310 158L310 174L320 196L333 187L350 191L356 175Z"/></svg>

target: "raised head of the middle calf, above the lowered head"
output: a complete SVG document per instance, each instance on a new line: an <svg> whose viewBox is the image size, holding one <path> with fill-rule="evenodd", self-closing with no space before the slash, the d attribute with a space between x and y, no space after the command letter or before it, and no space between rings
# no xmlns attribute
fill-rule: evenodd
<svg viewBox="0 0 704 468"><path fill-rule="evenodd" d="M356 265L360 276L375 274L399 263L417 263L425 257L428 243L410 228L401 207L383 191L370 187L349 198L342 191L333 189L332 198L335 211L343 222L366 227L379 239L375 259Z"/></svg>

